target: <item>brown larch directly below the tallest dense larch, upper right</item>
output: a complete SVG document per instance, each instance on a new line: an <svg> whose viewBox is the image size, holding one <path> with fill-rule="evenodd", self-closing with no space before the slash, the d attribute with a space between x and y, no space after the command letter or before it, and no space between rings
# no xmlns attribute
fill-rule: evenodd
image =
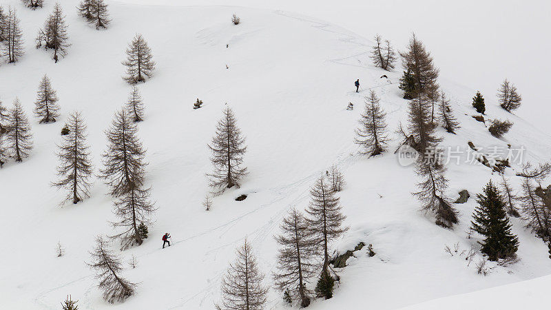
<svg viewBox="0 0 551 310"><path fill-rule="evenodd" d="M434 147L441 141L435 134L436 126L430 122L431 103L425 94L409 101L408 130L415 138L415 149L424 154L426 149Z"/></svg>

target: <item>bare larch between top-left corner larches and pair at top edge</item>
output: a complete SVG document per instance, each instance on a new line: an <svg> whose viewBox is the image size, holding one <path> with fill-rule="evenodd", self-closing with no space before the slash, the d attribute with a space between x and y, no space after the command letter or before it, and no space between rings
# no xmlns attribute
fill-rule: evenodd
<svg viewBox="0 0 551 310"><path fill-rule="evenodd" d="M37 48L44 44L45 49L54 50L53 59L57 63L58 55L65 56L70 44L67 43L67 25L65 25L65 15L59 3L54 6L54 11L44 23L44 27L39 30L37 37Z"/></svg>

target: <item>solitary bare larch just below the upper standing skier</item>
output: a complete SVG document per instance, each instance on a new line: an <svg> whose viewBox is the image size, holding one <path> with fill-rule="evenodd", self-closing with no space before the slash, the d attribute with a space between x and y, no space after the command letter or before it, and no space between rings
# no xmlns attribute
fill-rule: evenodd
<svg viewBox="0 0 551 310"><path fill-rule="evenodd" d="M380 99L372 90L369 97L366 97L366 107L360 127L356 129L355 143L362 146L362 154L376 156L386 150L388 138L386 136L386 113L379 104Z"/></svg>

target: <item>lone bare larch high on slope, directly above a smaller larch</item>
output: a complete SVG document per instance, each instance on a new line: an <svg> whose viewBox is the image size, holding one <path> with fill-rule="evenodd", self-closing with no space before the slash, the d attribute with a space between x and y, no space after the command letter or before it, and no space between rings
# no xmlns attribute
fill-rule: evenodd
<svg viewBox="0 0 551 310"><path fill-rule="evenodd" d="M153 75L155 61L151 53L151 48L141 34L136 34L132 42L126 49L127 59L123 61L126 66L126 76L123 77L129 84L145 82L145 78Z"/></svg>

